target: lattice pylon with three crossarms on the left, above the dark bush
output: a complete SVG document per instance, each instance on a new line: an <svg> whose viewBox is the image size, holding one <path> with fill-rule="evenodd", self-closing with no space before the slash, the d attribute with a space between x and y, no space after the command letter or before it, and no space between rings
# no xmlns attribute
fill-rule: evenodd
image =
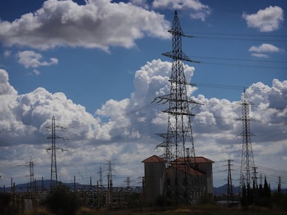
<svg viewBox="0 0 287 215"><path fill-rule="evenodd" d="M51 139L52 140L52 147L48 150L52 151L52 156L51 156L51 183L50 183L50 187L55 187L58 186L58 176L57 176L57 162L56 162L56 149L60 149L61 151L67 151L61 148L58 148L55 146L55 140L56 139L62 139L62 140L67 140L64 138L61 138L60 136L55 134L55 129L60 128L62 130L66 129L64 127L60 127L58 125L55 124L55 117L53 116L52 118L52 124L49 127L46 127L47 131L51 130L51 135L45 139Z"/></svg>

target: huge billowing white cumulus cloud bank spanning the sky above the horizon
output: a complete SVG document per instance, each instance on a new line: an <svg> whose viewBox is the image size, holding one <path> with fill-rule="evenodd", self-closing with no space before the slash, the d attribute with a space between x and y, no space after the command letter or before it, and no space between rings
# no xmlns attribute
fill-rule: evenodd
<svg viewBox="0 0 287 215"><path fill-rule="evenodd" d="M51 135L46 127L51 125L54 115L56 124L67 127L57 129L57 135L69 138L67 142L57 139L57 146L68 149L57 153L59 178L73 179L77 182L89 183L93 175L105 160L114 161L118 171L128 176L143 176L141 160L153 154L157 144L163 140L155 133L166 133L168 115L161 111L168 104L151 104L159 95L169 93L169 77L171 62L154 59L146 62L134 73L134 92L123 100L107 100L101 109L92 115L85 107L75 104L64 93L50 93L45 88L19 95L8 79L8 73L0 70L0 128L1 157L3 167L22 165L33 156L35 177L49 179L51 153L46 153L50 142L44 137ZM184 64L186 81L189 82L195 68ZM191 96L196 88L189 86ZM254 145L255 165L272 165L273 168L284 169L287 153L286 121L287 121L287 81L273 80L272 86L257 82L246 89L248 100L254 103L250 116L250 129L256 136L252 137ZM211 160L241 158L242 140L237 135L242 133L241 105L239 101L207 99L204 95L192 97L204 104L193 109L196 115L192 118L194 147L196 156L206 156ZM3 101L3 102L2 102ZM274 146L268 155L266 149ZM268 161L268 163L267 163ZM240 162L240 161L238 161ZM28 171L28 170L27 170ZM10 184L11 176L16 170L5 168L3 184ZM116 172L119 185L127 175ZM26 182L25 169L17 169L18 178ZM86 180L87 179L87 180ZM216 178L215 178L216 179ZM20 180L17 179L16 180ZM24 180L24 181L23 181Z"/></svg>

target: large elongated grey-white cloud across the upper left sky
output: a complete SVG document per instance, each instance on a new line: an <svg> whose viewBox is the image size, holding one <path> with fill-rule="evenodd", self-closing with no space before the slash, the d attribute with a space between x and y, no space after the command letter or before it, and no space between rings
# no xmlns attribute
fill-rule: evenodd
<svg viewBox="0 0 287 215"><path fill-rule="evenodd" d="M6 46L37 49L57 46L131 48L143 37L169 38L169 23L163 15L132 3L44 1L42 8L15 21L0 21L0 41Z"/></svg>

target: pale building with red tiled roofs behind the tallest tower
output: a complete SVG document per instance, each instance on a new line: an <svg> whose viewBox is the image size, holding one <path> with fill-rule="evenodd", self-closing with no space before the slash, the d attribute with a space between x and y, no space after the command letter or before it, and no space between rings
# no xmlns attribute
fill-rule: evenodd
<svg viewBox="0 0 287 215"><path fill-rule="evenodd" d="M213 196L214 161L208 158L177 158L168 167L165 160L159 156L151 156L142 162L145 168L143 195L148 204L155 203L156 198L162 195L177 200L186 195L189 195L189 198L184 197L182 200Z"/></svg>

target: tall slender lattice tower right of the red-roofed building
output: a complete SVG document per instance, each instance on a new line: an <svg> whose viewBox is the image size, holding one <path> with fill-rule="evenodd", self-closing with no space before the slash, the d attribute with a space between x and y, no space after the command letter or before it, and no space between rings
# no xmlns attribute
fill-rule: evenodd
<svg viewBox="0 0 287 215"><path fill-rule="evenodd" d="M243 186L250 187L250 183L253 178L253 184L257 186L256 183L256 171L254 165L254 157L251 144L251 136L254 134L250 132L250 106L252 102L247 100L246 92L244 89L243 99L239 104L242 105L242 117L238 120L242 121L243 132L239 135L243 137L242 142L242 155L241 155L241 177L240 177L240 187L241 191Z"/></svg>

